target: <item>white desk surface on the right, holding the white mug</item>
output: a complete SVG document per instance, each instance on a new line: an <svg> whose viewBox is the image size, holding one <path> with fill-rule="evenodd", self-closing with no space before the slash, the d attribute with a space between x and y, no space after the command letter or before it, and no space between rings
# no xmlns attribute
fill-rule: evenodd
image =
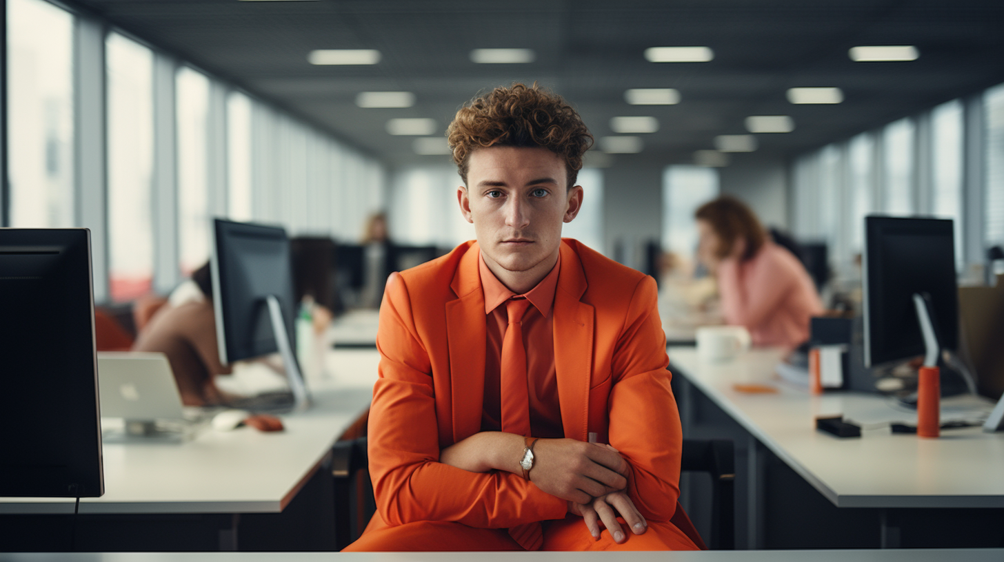
<svg viewBox="0 0 1004 562"><path fill-rule="evenodd" d="M778 380L776 350L753 350L726 363L702 361L693 347L671 348L671 368L837 507L1004 507L1004 433L981 428L943 431L940 439L893 435L888 429L838 439L815 430L815 417L843 414L861 422L909 419L877 394L807 389ZM777 393L751 394L735 383L762 383ZM914 414L916 419L916 414Z"/></svg>

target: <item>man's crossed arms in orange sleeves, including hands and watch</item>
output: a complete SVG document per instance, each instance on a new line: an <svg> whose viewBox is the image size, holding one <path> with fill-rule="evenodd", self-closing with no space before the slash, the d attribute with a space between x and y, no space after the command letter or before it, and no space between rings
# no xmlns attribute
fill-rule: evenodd
<svg viewBox="0 0 1004 562"><path fill-rule="evenodd" d="M614 531L614 512L634 532L644 532L647 519L669 521L679 496L681 431L655 310L655 282L645 278L635 288L610 360L612 448L540 440L527 482L518 465L520 436L479 433L441 447L429 351L404 280L389 283L369 424L370 474L384 520L507 528L570 512L583 516L594 536L598 521Z"/></svg>

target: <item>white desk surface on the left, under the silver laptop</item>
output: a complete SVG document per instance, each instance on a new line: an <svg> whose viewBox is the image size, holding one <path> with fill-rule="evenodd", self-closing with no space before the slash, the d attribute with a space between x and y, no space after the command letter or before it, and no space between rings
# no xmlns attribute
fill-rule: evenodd
<svg viewBox="0 0 1004 562"><path fill-rule="evenodd" d="M375 349L330 352L329 376L308 380L314 403L280 415L285 431L206 429L180 444L104 444L104 496L83 514L280 512L341 432L366 408ZM0 514L73 513L65 498L0 498Z"/></svg>

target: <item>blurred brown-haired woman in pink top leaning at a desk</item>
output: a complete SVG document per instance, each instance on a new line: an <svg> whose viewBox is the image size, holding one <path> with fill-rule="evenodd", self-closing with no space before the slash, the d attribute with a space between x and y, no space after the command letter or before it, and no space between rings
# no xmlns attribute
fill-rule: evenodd
<svg viewBox="0 0 1004 562"><path fill-rule="evenodd" d="M718 278L729 324L745 326L755 345L793 349L809 338L809 318L822 313L801 262L774 244L743 202L723 196L695 213L698 259Z"/></svg>

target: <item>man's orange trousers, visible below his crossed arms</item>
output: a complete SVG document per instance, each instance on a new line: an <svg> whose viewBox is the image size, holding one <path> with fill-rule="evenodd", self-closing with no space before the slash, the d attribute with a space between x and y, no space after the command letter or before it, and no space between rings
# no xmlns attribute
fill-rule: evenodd
<svg viewBox="0 0 1004 562"><path fill-rule="evenodd" d="M541 550L698 550L672 523L649 521L649 529L642 535L635 535L628 530L623 520L618 521L628 536L623 544L613 542L605 529L598 541L593 539L580 517L570 515L561 520L545 521ZM375 513L362 536L345 548L345 552L451 550L522 550L522 547L512 540L506 529L478 529L449 521L418 521L392 527Z"/></svg>

